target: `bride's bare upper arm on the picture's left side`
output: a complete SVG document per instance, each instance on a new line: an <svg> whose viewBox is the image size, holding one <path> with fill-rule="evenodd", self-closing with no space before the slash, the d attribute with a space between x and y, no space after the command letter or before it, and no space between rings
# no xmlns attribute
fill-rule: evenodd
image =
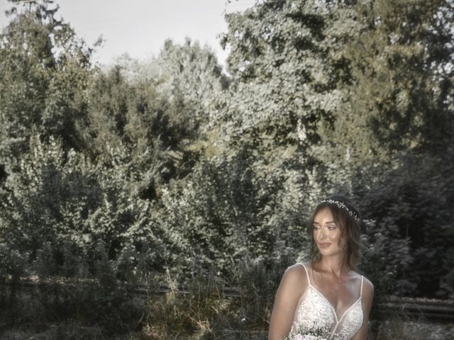
<svg viewBox="0 0 454 340"><path fill-rule="evenodd" d="M287 268L277 288L268 340L282 340L284 336L289 335L299 297L306 288L307 278L304 268L299 264Z"/></svg>

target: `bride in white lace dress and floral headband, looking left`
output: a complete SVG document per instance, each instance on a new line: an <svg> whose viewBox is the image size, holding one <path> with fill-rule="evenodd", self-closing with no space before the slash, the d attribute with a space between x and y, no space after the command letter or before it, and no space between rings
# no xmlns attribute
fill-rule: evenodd
<svg viewBox="0 0 454 340"><path fill-rule="evenodd" d="M360 213L344 196L319 202L309 225L312 261L297 263L282 276L269 340L367 339L374 288L355 271L359 222ZM304 337L309 334L318 337Z"/></svg>

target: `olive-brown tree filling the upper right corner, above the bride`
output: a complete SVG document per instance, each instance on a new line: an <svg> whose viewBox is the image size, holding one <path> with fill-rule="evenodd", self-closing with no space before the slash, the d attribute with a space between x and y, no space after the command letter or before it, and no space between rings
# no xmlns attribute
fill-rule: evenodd
<svg viewBox="0 0 454 340"><path fill-rule="evenodd" d="M453 124L453 5L387 0L353 8L363 28L338 52L350 81L314 152L339 163L336 171L361 176L358 168L399 166L401 152L442 151Z"/></svg>

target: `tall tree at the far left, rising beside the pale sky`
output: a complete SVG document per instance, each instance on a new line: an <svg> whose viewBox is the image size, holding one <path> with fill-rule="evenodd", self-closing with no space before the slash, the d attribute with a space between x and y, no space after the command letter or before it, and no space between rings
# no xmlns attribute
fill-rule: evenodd
<svg viewBox="0 0 454 340"><path fill-rule="evenodd" d="M33 129L81 149L87 123L92 47L57 20L53 1L27 6L9 11L0 35L0 163L7 172L27 151Z"/></svg>

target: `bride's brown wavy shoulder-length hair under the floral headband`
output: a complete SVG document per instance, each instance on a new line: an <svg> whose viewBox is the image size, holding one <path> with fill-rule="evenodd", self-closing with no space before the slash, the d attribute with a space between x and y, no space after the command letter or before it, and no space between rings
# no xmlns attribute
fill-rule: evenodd
<svg viewBox="0 0 454 340"><path fill-rule="evenodd" d="M328 203L325 200L336 200L338 202L343 203L350 212L358 218L358 221L355 220L355 217L350 215L345 208L340 208L338 205L333 203ZM361 215L359 210L350 202L348 198L343 195L334 195L324 200L316 206L314 213L311 215L308 225L308 232L311 235L311 262L314 265L319 259L321 259L321 254L319 249L316 246L314 240L314 218L317 215L317 212L322 210L323 208L328 208L331 210L331 214L333 214L333 220L336 222L341 228L341 239L345 239L344 245L339 244L341 248L345 251L345 266L347 266L350 270L356 269L356 263L358 263L360 259L360 220ZM339 240L341 242L341 240ZM314 267L314 266L313 266Z"/></svg>

